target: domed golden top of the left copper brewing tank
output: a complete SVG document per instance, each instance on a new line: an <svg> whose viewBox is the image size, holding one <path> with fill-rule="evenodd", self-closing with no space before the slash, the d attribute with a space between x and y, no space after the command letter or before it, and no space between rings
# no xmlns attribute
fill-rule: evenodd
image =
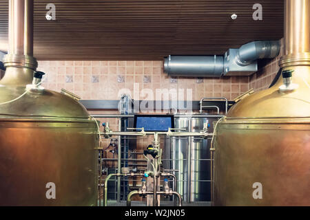
<svg viewBox="0 0 310 220"><path fill-rule="evenodd" d="M0 85L0 118L79 120L90 117L85 107L70 96L48 89L24 93L25 87Z"/></svg>

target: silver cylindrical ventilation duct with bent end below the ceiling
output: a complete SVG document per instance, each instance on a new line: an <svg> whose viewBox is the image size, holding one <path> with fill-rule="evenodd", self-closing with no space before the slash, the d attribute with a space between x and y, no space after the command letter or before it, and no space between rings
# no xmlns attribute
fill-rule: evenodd
<svg viewBox="0 0 310 220"><path fill-rule="evenodd" d="M280 52L279 41L254 41L223 56L172 56L165 58L164 72L169 76L220 77L249 75L258 70L261 58L274 58Z"/></svg>

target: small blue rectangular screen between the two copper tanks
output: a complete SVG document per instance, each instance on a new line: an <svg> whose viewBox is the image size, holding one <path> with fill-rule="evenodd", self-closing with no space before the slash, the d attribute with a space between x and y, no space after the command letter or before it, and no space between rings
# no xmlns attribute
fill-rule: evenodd
<svg viewBox="0 0 310 220"><path fill-rule="evenodd" d="M172 115L135 115L134 127L144 128L145 131L168 131L174 128Z"/></svg>

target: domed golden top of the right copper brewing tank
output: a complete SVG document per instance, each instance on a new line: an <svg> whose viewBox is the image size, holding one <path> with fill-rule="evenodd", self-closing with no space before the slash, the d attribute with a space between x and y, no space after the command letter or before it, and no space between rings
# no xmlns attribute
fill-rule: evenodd
<svg viewBox="0 0 310 220"><path fill-rule="evenodd" d="M284 69L286 71L287 69ZM234 104L227 113L227 119L234 118L304 118L310 116L310 67L289 67L295 90L282 92L282 76L278 82L262 91L247 96Z"/></svg>

